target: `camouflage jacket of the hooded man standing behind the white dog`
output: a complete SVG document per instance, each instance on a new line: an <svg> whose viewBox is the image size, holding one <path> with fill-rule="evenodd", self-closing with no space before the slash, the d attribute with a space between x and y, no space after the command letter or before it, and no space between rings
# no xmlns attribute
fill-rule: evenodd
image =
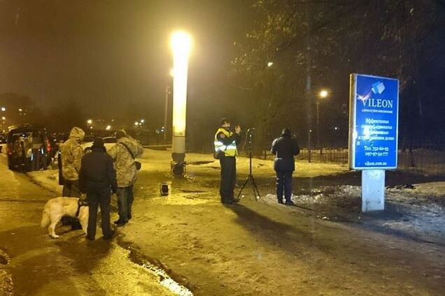
<svg viewBox="0 0 445 296"><path fill-rule="evenodd" d="M76 181L79 179L80 163L82 162L83 149L76 138L69 138L60 147L62 157L62 175L64 179Z"/></svg>

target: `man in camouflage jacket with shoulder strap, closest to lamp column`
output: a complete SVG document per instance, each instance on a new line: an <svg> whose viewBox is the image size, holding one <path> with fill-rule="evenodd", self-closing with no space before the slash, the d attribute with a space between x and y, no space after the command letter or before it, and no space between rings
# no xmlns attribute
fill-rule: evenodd
<svg viewBox="0 0 445 296"><path fill-rule="evenodd" d="M114 161L116 179L118 179L118 208L119 219L115 221L118 226L125 225L132 219L133 184L136 181L136 164L134 157L143 153L143 148L125 131L116 131L116 144L109 149L108 154ZM131 151L131 153L130 153Z"/></svg>

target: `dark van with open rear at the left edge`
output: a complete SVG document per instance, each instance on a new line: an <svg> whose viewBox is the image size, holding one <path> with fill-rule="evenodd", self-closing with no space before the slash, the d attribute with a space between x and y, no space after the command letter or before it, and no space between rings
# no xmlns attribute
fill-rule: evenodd
<svg viewBox="0 0 445 296"><path fill-rule="evenodd" d="M50 153L51 145L45 128L31 124L10 126L6 139L10 170L46 170L51 163Z"/></svg>

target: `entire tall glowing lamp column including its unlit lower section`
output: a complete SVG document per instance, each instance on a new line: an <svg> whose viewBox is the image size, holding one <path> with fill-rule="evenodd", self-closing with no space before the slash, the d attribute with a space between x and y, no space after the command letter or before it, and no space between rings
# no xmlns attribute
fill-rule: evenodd
<svg viewBox="0 0 445 296"><path fill-rule="evenodd" d="M185 168L185 107L187 102L188 57L192 38L184 31L171 35L173 50L173 123L171 168L174 175L183 175Z"/></svg>

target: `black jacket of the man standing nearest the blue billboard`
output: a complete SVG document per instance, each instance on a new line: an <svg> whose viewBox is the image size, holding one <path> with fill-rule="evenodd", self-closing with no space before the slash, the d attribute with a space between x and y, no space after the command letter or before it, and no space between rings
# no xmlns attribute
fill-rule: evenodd
<svg viewBox="0 0 445 296"><path fill-rule="evenodd" d="M294 171L294 155L299 154L297 140L290 138L290 135L281 135L272 142L270 151L276 155L274 161L274 170Z"/></svg>

